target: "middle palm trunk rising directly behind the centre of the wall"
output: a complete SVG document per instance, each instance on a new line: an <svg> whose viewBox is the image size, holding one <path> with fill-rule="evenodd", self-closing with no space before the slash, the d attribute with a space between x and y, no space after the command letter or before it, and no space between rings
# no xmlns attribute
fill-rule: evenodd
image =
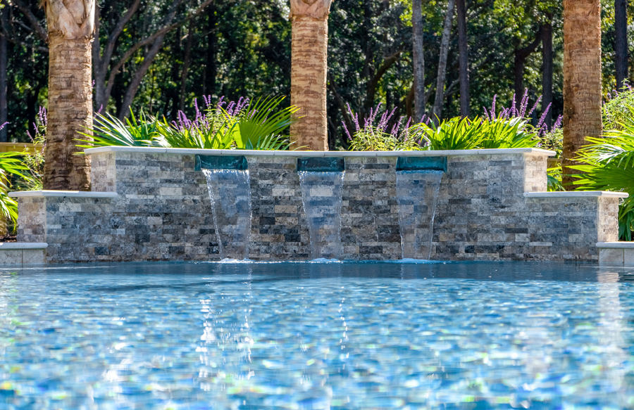
<svg viewBox="0 0 634 410"><path fill-rule="evenodd" d="M328 150L326 75L331 0L290 0L292 20L291 104L303 117L292 124L294 147Z"/></svg>

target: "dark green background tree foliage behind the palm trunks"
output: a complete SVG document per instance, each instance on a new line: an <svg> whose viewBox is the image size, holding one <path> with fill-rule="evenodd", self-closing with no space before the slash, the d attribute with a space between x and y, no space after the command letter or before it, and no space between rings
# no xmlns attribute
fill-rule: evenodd
<svg viewBox="0 0 634 410"><path fill-rule="evenodd" d="M28 141L39 105L46 106L48 53L38 0L3 0L2 35L8 40L8 138ZM93 52L94 110L118 117L141 108L191 114L194 98L290 94L291 23L287 0L116 0L99 4ZM493 97L510 105L516 89L531 101L542 94L542 26L552 24L553 117L563 109L561 2L466 1L472 115ZM628 11L634 11L631 9ZM423 1L426 111L434 103L447 0ZM631 13L629 13L631 15ZM631 20L630 20L631 21ZM328 44L328 137L347 147L342 122L347 104L365 115L382 103L394 118L412 113L410 0L335 0ZM602 2L603 89L616 84L614 1ZM459 114L458 36L454 18L443 117ZM634 34L628 34L628 45ZM521 76L517 55L523 56ZM632 72L633 70L630 70ZM518 84L518 80L520 84ZM108 91L109 90L109 91ZM100 101L97 101L101 98ZM288 100L288 99L287 99ZM103 105L103 107L101 107ZM301 113L301 112L300 112ZM537 117L540 110L536 111ZM332 149L332 148L331 148Z"/></svg>

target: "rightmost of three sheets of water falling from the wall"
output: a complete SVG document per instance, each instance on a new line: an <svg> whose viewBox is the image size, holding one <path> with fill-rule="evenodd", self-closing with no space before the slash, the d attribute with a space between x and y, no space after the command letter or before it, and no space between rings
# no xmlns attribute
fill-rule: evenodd
<svg viewBox="0 0 634 410"><path fill-rule="evenodd" d="M397 201L404 259L430 259L442 171L398 171Z"/></svg>

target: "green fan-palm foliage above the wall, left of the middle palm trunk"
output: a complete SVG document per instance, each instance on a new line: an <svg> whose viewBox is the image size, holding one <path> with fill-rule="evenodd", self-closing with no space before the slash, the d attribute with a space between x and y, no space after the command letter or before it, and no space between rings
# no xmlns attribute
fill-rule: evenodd
<svg viewBox="0 0 634 410"><path fill-rule="evenodd" d="M299 108L294 105L280 108L283 96L240 98L226 103L223 98L212 105L211 96L205 96L206 108L199 110L194 101L196 116L189 120L182 111L176 121L168 122L145 115L138 120L134 113L125 124L111 115L97 115L92 136L79 139L79 146L149 146L165 148L284 150L290 147L287 129L297 121Z"/></svg>

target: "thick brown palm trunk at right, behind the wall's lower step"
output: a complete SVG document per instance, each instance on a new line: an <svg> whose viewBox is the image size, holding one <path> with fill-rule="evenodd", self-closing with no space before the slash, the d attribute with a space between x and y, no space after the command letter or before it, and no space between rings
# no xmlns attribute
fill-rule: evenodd
<svg viewBox="0 0 634 410"><path fill-rule="evenodd" d="M599 0L564 0L563 182L571 190L585 137L599 137L601 121L601 13Z"/></svg>

